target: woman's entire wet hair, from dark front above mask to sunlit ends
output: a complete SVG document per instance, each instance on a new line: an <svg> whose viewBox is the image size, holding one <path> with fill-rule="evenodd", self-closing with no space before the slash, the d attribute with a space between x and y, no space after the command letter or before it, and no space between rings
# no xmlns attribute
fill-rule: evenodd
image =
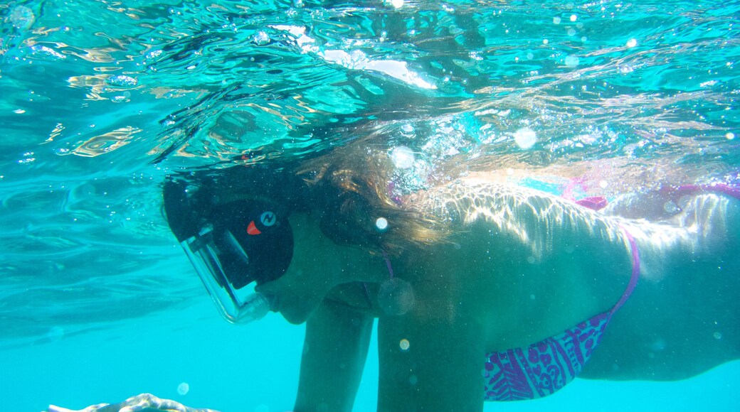
<svg viewBox="0 0 740 412"><path fill-rule="evenodd" d="M163 188L165 216L182 241L197 234L218 205L255 199L276 202L283 213L319 210L325 236L371 253L399 255L442 241L440 219L394 198L393 171L387 148L355 141L280 168L236 165L174 174Z"/></svg>

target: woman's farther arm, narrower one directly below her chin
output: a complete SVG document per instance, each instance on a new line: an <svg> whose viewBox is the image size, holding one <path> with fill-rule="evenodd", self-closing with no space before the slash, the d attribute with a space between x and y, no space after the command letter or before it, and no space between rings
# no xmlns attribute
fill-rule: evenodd
<svg viewBox="0 0 740 412"><path fill-rule="evenodd" d="M351 411L373 317L325 299L306 321L295 412Z"/></svg>

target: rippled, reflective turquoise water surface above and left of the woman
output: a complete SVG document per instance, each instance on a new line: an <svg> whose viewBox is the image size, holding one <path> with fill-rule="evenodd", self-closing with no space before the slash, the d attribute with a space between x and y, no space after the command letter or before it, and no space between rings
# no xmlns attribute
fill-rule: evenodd
<svg viewBox="0 0 740 412"><path fill-rule="evenodd" d="M0 4L0 328L192 295L192 276L148 289L181 279L158 266L182 258L159 198L181 168L371 134L414 154L409 188L476 168L614 192L739 179L736 3Z"/></svg>

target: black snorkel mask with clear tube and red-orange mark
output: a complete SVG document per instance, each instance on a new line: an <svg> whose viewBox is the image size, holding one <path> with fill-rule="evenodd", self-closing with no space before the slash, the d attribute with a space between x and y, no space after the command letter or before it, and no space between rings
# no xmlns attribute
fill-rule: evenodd
<svg viewBox="0 0 740 412"><path fill-rule="evenodd" d="M221 203L217 191L218 179L169 176L164 183L164 209L172 233L221 315L231 323L247 323L273 306L273 298L255 292L255 286L286 272L293 255L293 232L286 208L276 202Z"/></svg>

